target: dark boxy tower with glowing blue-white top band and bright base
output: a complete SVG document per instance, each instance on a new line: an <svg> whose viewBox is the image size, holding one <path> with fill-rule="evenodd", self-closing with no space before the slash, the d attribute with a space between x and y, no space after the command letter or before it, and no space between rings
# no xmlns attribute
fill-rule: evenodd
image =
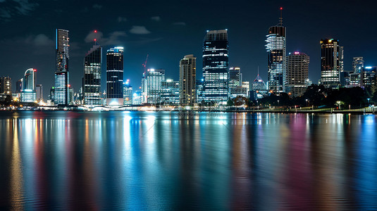
<svg viewBox="0 0 377 211"><path fill-rule="evenodd" d="M107 50L106 92L107 105L123 105L123 47Z"/></svg>

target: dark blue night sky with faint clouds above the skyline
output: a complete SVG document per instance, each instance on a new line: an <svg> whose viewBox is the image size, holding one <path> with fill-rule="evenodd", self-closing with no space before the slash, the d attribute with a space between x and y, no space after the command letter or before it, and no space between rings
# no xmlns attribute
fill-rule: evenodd
<svg viewBox="0 0 377 211"><path fill-rule="evenodd" d="M63 3L64 2L64 3ZM70 30L70 84L78 91L85 53L93 45L93 30L106 50L125 47L125 79L140 86L142 63L166 70L178 79L179 60L197 57L202 78L202 41L206 30L228 29L229 65L241 68L244 80L257 76L266 82L268 27L278 24L283 7L287 53L310 56L309 79L320 77L322 38L345 46L345 70L352 57L364 56L377 65L376 1L28 1L0 0L0 76L12 78L13 89L27 68L37 69L44 97L54 84L55 30ZM104 60L105 62L105 60ZM103 79L106 63L103 63ZM105 89L102 80L102 89Z"/></svg>

